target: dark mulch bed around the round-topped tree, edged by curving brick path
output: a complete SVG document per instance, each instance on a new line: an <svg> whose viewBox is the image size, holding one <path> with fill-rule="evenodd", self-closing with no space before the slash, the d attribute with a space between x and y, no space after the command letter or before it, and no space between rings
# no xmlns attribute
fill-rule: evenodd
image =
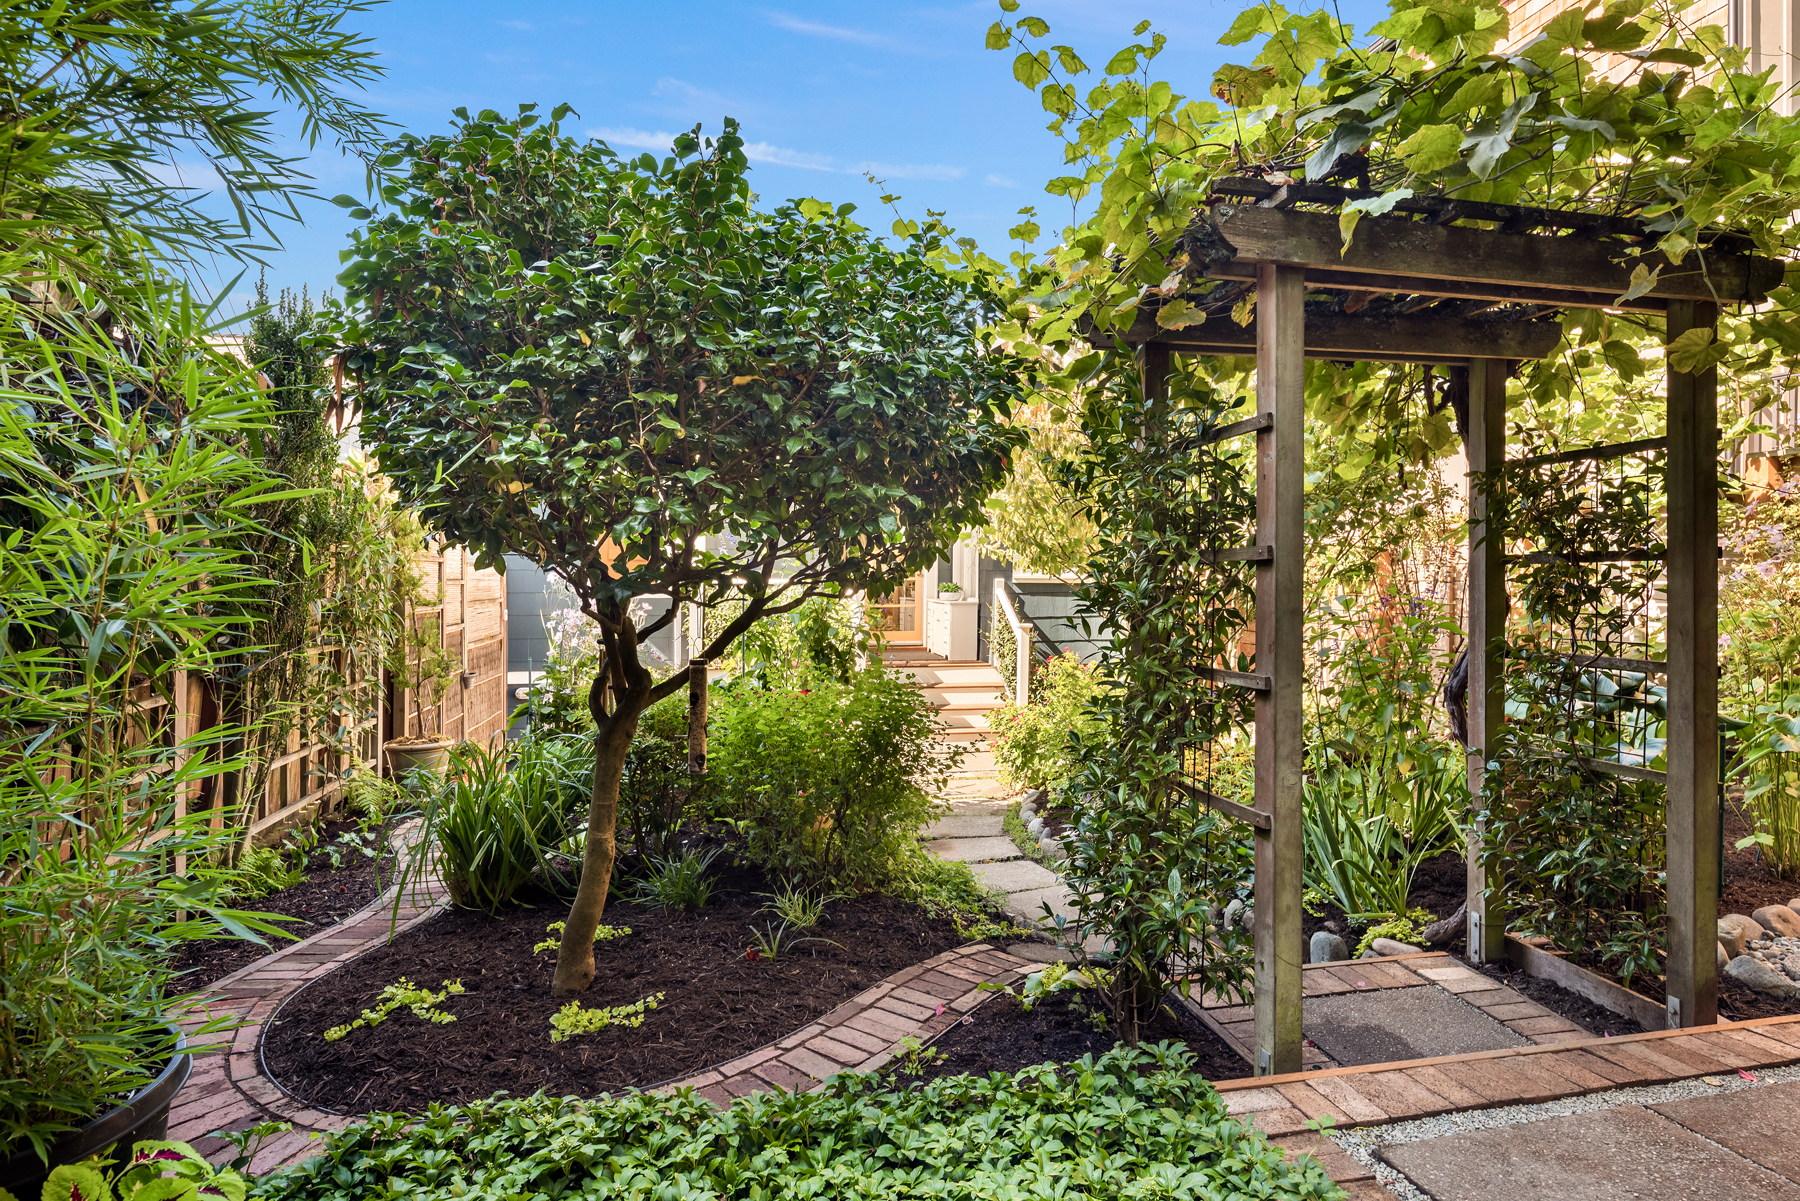
<svg viewBox="0 0 1800 1201"><path fill-rule="evenodd" d="M567 904L545 893L499 918L450 909L295 994L265 1046L270 1075L295 1097L340 1113L423 1109L468 1102L499 1089L515 1095L594 1097L662 1084L725 1062L799 1030L891 972L963 942L949 920L891 897L857 897L826 908L817 935L839 947L805 944L778 962L747 962L749 926L769 884L727 871L724 895L695 915L612 900L608 926L625 938L594 949L599 972L583 1008L628 1005L666 994L641 1028L614 1026L551 1043L551 1014L569 1003L551 996L554 951L533 954ZM466 992L430 1025L407 1010L385 1023L326 1043L320 1034L374 1005L405 976L437 990L461 978Z"/></svg>

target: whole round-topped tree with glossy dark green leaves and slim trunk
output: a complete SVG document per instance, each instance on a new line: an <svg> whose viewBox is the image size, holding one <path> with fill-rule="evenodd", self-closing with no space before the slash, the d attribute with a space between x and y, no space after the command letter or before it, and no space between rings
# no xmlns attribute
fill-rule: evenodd
<svg viewBox="0 0 1800 1201"><path fill-rule="evenodd" d="M760 212L738 126L661 162L457 110L403 137L387 212L335 310L362 436L401 497L477 562L518 553L601 628L594 787L554 990L587 989L639 713L684 688L637 646L635 596L745 598L758 618L932 562L1004 472L1021 360L995 293L931 223L891 248L817 200Z"/></svg>

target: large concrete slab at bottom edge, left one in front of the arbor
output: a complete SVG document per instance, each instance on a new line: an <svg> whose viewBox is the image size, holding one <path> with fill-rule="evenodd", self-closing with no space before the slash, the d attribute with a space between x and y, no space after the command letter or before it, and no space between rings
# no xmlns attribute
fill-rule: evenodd
<svg viewBox="0 0 1800 1201"><path fill-rule="evenodd" d="M1800 1201L1800 1187L1638 1106L1390 1143L1436 1201Z"/></svg>

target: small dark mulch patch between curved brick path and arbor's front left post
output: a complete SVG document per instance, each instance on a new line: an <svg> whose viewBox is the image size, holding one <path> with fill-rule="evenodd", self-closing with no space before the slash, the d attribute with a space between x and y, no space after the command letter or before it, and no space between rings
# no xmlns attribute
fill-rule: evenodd
<svg viewBox="0 0 1800 1201"><path fill-rule="evenodd" d="M1096 1030L1091 1017L1102 1008L1100 998L1089 992L1058 992L1026 1012L1017 998L1001 994L990 998L967 1025L950 1026L932 1050L943 1052L941 1062L923 1064L909 1071L904 1064L895 1073L907 1082L934 1080L952 1075L985 1077L992 1071L1013 1073L1042 1062L1069 1062L1082 1055L1096 1059L1118 1044L1111 1028ZM1141 1043L1186 1043L1195 1055L1195 1071L1208 1080L1237 1080L1249 1075L1242 1055L1226 1046L1224 1039L1175 1007L1157 1012L1139 1035Z"/></svg>

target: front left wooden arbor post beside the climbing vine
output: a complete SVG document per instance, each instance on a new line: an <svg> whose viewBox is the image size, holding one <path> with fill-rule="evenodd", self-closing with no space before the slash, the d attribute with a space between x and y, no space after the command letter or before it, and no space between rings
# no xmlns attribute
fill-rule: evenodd
<svg viewBox="0 0 1800 1201"><path fill-rule="evenodd" d="M1256 1075L1300 1071L1305 274L1256 266Z"/></svg>

